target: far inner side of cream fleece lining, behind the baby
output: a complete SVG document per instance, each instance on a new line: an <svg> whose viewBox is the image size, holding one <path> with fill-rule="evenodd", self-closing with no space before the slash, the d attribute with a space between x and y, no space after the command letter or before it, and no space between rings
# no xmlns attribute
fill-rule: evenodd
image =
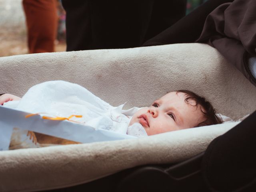
<svg viewBox="0 0 256 192"><path fill-rule="evenodd" d="M27 54L0 58L0 93L22 96L49 80L84 86L126 108L149 106L167 92L189 89L238 119L256 108L256 88L206 44Z"/></svg>

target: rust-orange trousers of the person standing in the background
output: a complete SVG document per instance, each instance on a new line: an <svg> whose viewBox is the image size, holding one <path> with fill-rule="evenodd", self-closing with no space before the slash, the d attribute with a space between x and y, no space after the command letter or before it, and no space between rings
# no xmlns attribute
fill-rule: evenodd
<svg viewBox="0 0 256 192"><path fill-rule="evenodd" d="M58 16L56 0L23 0L30 53L54 52Z"/></svg>

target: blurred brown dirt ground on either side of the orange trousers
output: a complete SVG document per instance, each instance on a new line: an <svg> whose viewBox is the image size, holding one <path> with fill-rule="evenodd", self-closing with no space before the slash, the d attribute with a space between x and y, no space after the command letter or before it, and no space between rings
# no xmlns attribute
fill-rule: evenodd
<svg viewBox="0 0 256 192"><path fill-rule="evenodd" d="M55 51L66 51L66 43L56 40ZM0 57L20 54L28 54L26 29L2 27L0 30Z"/></svg>

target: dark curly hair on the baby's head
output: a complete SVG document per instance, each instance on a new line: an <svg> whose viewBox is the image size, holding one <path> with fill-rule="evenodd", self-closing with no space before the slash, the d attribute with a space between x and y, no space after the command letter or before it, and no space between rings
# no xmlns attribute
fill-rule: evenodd
<svg viewBox="0 0 256 192"><path fill-rule="evenodd" d="M186 95L185 102L187 104L192 105L191 102L189 102L189 100L193 100L196 102L196 104L193 106L201 106L201 111L206 120L200 122L196 127L220 124L223 122L222 118L217 116L216 110L213 108L212 104L208 102L204 97L201 97L198 94L195 94L194 92L189 90L178 90L176 92L181 92Z"/></svg>

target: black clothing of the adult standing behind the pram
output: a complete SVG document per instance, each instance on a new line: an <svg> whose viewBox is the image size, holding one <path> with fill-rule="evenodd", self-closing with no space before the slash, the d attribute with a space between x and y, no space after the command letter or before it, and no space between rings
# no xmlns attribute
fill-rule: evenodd
<svg viewBox="0 0 256 192"><path fill-rule="evenodd" d="M186 14L186 0L62 0L67 51L141 46Z"/></svg>

